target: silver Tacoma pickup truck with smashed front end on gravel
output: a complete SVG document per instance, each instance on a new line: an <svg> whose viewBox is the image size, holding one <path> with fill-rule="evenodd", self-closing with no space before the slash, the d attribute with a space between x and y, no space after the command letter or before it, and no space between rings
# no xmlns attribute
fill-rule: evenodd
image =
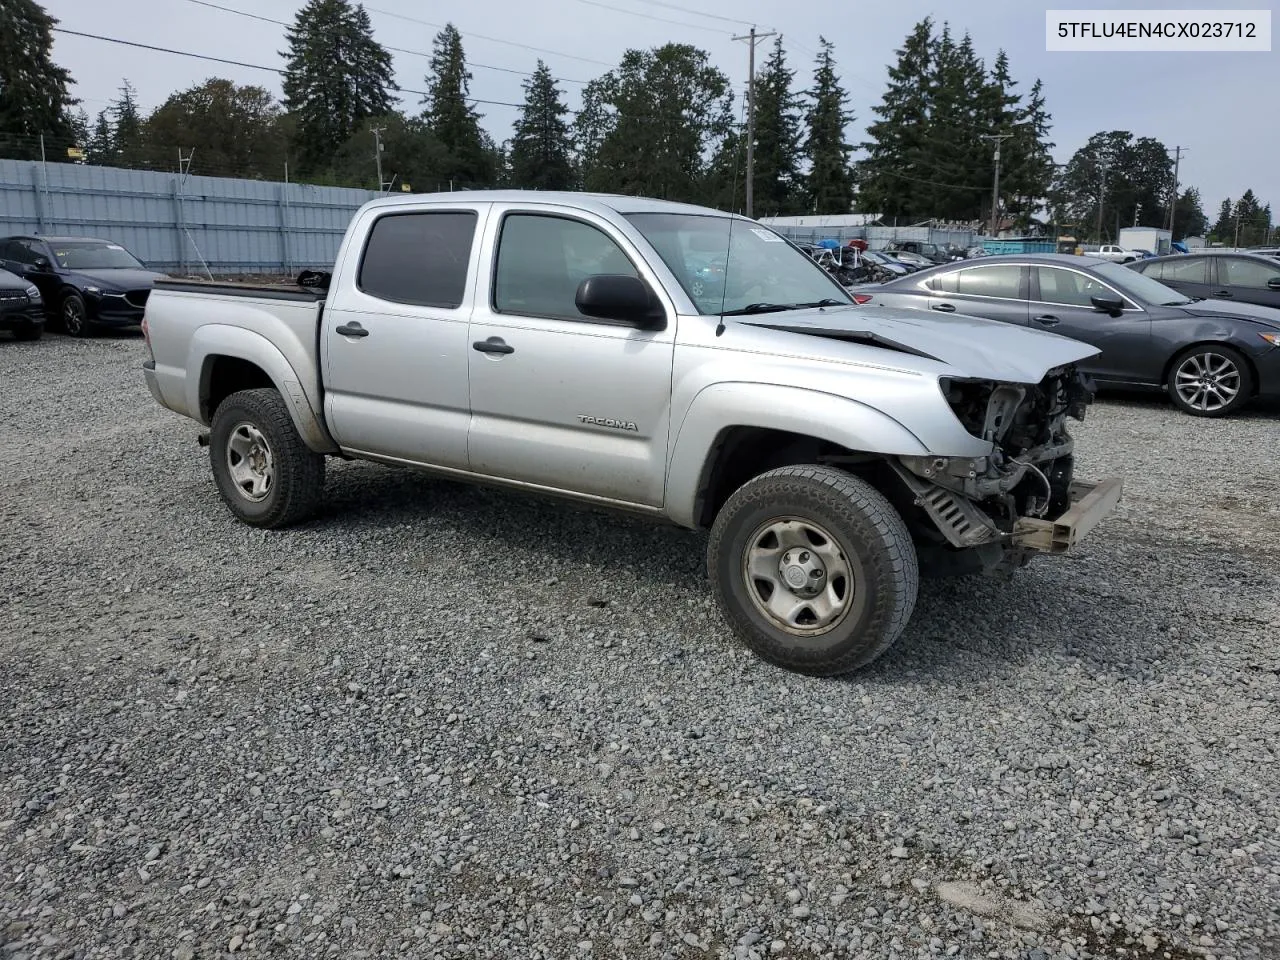
<svg viewBox="0 0 1280 960"><path fill-rule="evenodd" d="M726 621L805 673L888 649L922 573L1066 552L1120 498L1073 476L1094 347L859 306L704 207L376 200L332 275L160 282L145 332L152 396L209 428L246 524L308 516L337 456L707 529Z"/></svg>

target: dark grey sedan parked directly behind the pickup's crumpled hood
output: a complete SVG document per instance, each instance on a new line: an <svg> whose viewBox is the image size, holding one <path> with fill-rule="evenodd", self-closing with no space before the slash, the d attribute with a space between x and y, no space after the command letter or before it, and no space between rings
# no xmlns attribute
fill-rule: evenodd
<svg viewBox="0 0 1280 960"><path fill-rule="evenodd" d="M988 317L1091 343L1102 353L1080 367L1100 385L1165 389L1197 416L1280 397L1280 310L1196 301L1098 257L991 256L855 289L873 306Z"/></svg>

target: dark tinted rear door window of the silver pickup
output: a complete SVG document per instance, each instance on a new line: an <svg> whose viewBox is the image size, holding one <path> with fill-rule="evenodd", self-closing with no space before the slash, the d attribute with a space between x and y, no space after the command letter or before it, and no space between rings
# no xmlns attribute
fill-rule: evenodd
<svg viewBox="0 0 1280 960"><path fill-rule="evenodd" d="M472 210L385 214L374 223L356 285L393 303L454 310L466 298Z"/></svg>

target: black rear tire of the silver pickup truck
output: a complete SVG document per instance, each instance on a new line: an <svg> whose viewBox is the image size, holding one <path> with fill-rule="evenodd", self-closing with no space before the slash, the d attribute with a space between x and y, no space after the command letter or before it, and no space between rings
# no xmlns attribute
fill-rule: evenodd
<svg viewBox="0 0 1280 960"><path fill-rule="evenodd" d="M274 389L241 390L218 406L209 460L223 502L250 526L285 527L311 516L320 503L325 458L302 442L289 408ZM242 463L255 480L233 474ZM255 465L261 468L253 471ZM244 485L261 477L269 477L261 489Z"/></svg>

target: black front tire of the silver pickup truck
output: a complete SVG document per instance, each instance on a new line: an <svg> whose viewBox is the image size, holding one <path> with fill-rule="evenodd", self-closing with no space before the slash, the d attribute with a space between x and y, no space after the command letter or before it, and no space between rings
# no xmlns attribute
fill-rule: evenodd
<svg viewBox="0 0 1280 960"><path fill-rule="evenodd" d="M778 525L786 527L786 536L772 532ZM812 527L804 530L806 525ZM817 540L813 527L820 534ZM765 595L765 581L748 572L753 549L768 564L772 558L763 559L768 552L781 552L778 580L791 585L796 564L815 562L822 570L809 572L813 584L829 584L819 596L829 603L828 591L841 594L838 572L832 572L838 563L813 561L800 540L786 549L787 538L800 531L828 561L832 547L844 561L844 613L822 623L814 605L808 608L813 623L804 622L805 609L800 609L794 626L783 627L758 605L767 607L773 594ZM826 536L835 544L822 545ZM771 538L776 548L764 545ZM782 566L788 558L796 564ZM883 654L906 627L919 589L915 548L902 517L870 484L823 466L778 467L739 488L712 525L707 567L716 599L746 646L769 663L810 676L847 673ZM782 589L780 602L790 599L801 608L809 603L790 586Z"/></svg>

